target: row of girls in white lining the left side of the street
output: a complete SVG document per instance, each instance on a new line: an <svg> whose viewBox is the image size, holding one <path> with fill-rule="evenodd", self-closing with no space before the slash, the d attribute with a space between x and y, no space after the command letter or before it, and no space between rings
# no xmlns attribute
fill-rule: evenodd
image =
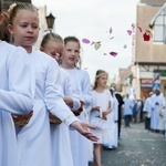
<svg viewBox="0 0 166 166"><path fill-rule="evenodd" d="M103 145L118 146L123 98L103 70L91 89L76 37L48 32L38 50L39 30L33 4L0 10L0 165L101 166Z"/></svg>

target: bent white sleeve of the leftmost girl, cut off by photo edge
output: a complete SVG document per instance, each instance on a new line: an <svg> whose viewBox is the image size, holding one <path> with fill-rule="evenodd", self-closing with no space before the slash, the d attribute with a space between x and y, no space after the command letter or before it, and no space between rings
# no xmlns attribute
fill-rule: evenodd
<svg viewBox="0 0 166 166"><path fill-rule="evenodd" d="M27 52L21 48L13 49L8 56L7 74L9 80L7 91L0 90L0 110L12 114L28 114L32 110L34 77L28 60Z"/></svg>

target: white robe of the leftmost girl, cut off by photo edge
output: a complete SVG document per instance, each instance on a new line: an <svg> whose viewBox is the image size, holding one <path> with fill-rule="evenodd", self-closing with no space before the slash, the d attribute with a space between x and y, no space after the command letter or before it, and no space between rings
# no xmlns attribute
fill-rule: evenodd
<svg viewBox="0 0 166 166"><path fill-rule="evenodd" d="M0 166L18 166L13 114L32 108L32 86L27 52L0 42Z"/></svg>

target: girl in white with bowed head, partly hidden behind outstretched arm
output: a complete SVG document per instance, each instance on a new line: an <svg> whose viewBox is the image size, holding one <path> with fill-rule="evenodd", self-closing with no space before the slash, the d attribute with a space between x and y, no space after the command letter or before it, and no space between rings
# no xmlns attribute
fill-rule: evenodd
<svg viewBox="0 0 166 166"><path fill-rule="evenodd" d="M40 50L60 63L63 51L63 39L59 34L48 33L43 37ZM71 105L72 110L77 110L81 106L81 103L74 94L74 86L71 76L62 68L60 69L60 79L64 102L68 105ZM73 166L69 127L64 123L61 123L60 125L51 124L51 138L53 165Z"/></svg>

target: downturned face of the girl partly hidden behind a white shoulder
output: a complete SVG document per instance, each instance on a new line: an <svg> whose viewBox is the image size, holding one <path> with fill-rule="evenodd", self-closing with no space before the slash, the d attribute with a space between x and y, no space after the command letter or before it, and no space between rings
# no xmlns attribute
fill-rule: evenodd
<svg viewBox="0 0 166 166"><path fill-rule="evenodd" d="M63 51L63 43L55 42L55 41L49 41L44 48L41 49L41 51L45 52L53 59L55 59L58 62L60 62L62 51Z"/></svg>

